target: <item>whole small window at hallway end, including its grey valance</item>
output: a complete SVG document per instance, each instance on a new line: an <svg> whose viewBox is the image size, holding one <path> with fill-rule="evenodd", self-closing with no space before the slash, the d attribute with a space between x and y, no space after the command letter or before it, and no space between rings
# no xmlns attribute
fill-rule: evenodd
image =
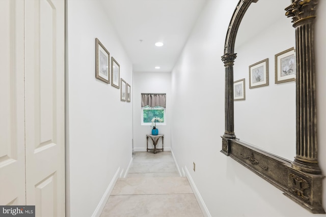
<svg viewBox="0 0 326 217"><path fill-rule="evenodd" d="M166 125L166 94L142 94L141 125L152 125L153 118L160 118L156 125Z"/></svg>

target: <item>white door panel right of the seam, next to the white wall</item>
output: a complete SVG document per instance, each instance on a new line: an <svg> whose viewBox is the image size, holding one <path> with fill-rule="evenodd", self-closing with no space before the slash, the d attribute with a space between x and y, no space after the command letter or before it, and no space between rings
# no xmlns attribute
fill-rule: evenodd
<svg viewBox="0 0 326 217"><path fill-rule="evenodd" d="M26 205L64 216L63 0L25 1L24 52Z"/></svg>

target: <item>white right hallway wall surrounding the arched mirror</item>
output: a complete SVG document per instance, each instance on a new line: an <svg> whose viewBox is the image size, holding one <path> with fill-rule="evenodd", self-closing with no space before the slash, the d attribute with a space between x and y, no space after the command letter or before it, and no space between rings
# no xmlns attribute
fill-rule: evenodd
<svg viewBox="0 0 326 217"><path fill-rule="evenodd" d="M172 151L188 173L211 216L324 216L312 214L277 188L220 152L224 134L226 30L237 0L208 1L172 72ZM326 2L319 1L315 43L320 167L326 172ZM290 18L288 18L290 22ZM273 44L270 44L273 46ZM263 59L263 58L262 58ZM236 60L235 60L236 64ZM183 109L185 106L189 109ZM180 128L182 123L183 128ZM236 132L235 132L236 133ZM293 156L295 151L293 151ZM196 172L192 170L196 163ZM323 207L326 208L326 181Z"/></svg>

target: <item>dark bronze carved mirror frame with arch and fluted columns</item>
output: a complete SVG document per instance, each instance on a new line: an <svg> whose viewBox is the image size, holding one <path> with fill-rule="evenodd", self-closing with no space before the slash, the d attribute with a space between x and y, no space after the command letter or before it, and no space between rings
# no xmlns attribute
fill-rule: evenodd
<svg viewBox="0 0 326 217"><path fill-rule="evenodd" d="M235 38L251 3L240 0L231 18L222 61L225 66L225 132L221 152L264 178L284 195L312 213L322 207L322 179L318 165L316 135L316 88L314 65L314 22L318 0L292 0L285 15L292 17L296 49L296 156L289 161L248 145L234 133L233 64Z"/></svg>

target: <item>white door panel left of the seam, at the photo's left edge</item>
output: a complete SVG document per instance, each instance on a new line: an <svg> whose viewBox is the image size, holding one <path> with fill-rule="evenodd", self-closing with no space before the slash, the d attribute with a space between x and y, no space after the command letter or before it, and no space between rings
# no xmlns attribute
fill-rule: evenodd
<svg viewBox="0 0 326 217"><path fill-rule="evenodd" d="M24 3L0 0L0 204L25 204Z"/></svg>

